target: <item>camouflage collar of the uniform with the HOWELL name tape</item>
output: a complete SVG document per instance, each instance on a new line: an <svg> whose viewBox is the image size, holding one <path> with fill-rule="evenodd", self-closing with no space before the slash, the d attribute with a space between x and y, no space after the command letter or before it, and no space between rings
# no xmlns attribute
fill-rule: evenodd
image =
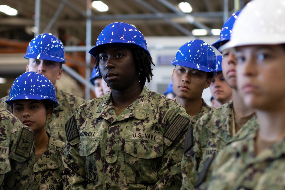
<svg viewBox="0 0 285 190"><path fill-rule="evenodd" d="M145 120L146 111L148 107L148 97L149 90L146 86L136 101L129 105L122 113L117 117L115 109L113 107L111 93L102 96L102 101L97 109L97 113L93 116L94 118L102 117L109 122L114 122L115 120L124 120L129 117L135 117L135 119Z"/></svg>

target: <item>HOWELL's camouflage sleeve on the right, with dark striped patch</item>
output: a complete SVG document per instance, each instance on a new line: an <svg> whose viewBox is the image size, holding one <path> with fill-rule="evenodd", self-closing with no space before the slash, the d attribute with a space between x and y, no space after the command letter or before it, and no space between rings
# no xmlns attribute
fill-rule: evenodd
<svg viewBox="0 0 285 190"><path fill-rule="evenodd" d="M170 125L164 132L166 148L159 163L159 181L152 189L180 189L181 187L181 160L184 152L185 134L192 127L192 124L190 122L191 117L182 111L177 112L176 110L176 113L172 115L172 119L169 122ZM184 120L185 123L181 122L181 120ZM180 132L173 129L175 126L180 128ZM175 135L177 135L176 138Z"/></svg>

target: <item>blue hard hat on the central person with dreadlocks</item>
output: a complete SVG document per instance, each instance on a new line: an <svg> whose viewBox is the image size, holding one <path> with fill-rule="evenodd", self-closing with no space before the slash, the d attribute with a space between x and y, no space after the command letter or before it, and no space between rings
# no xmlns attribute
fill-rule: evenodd
<svg viewBox="0 0 285 190"><path fill-rule="evenodd" d="M97 38L96 45L89 50L89 54L96 58L98 47L106 44L114 45L111 43L119 43L119 45L137 45L148 52L146 40L136 27L128 23L116 22L107 25L102 30Z"/></svg>

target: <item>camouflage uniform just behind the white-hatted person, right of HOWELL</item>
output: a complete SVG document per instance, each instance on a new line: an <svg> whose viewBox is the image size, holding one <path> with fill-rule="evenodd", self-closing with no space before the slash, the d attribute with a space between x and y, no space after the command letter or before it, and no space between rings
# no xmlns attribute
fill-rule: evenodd
<svg viewBox="0 0 285 190"><path fill-rule="evenodd" d="M184 145L181 189L194 189L193 185L195 185L198 173L203 169L205 161L228 142L244 138L248 133L253 132L255 128L252 125L253 122L256 122L255 115L233 135L235 124L232 100L202 116L196 122L193 133L189 130L186 134L186 140L192 137L193 140L189 140L192 143Z"/></svg>

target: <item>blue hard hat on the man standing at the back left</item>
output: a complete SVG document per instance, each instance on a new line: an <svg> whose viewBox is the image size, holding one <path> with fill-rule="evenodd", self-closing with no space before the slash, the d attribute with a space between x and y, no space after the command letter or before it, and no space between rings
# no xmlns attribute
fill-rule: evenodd
<svg viewBox="0 0 285 190"><path fill-rule="evenodd" d="M24 58L34 58L66 63L64 46L60 39L50 33L39 34L34 37L28 47Z"/></svg>

